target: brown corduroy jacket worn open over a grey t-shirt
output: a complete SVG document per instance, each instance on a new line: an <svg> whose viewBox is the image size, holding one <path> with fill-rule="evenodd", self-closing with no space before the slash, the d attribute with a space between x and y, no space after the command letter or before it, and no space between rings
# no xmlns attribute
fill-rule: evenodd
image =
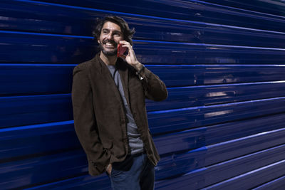
<svg viewBox="0 0 285 190"><path fill-rule="evenodd" d="M73 69L72 87L74 126L93 176L103 173L109 163L123 161L129 152L123 100L99 55ZM165 84L147 68L145 78L140 80L123 59L118 58L116 65L145 152L156 165L160 157L148 128L145 98L165 100Z"/></svg>

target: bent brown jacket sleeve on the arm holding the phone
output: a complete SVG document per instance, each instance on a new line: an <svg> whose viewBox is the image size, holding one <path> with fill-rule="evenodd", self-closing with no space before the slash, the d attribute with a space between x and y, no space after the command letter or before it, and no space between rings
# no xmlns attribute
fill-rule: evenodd
<svg viewBox="0 0 285 190"><path fill-rule="evenodd" d="M165 83L153 74L147 68L144 69L140 75L144 76L142 79L142 85L145 90L145 97L150 100L162 101L167 98L168 92Z"/></svg>

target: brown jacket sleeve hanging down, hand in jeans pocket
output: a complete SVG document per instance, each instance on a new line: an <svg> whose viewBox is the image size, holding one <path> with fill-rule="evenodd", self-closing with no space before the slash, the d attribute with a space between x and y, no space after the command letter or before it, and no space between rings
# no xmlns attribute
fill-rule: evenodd
<svg viewBox="0 0 285 190"><path fill-rule="evenodd" d="M73 69L72 103L76 134L87 154L89 165L95 167L96 173L100 174L109 164L110 152L103 148L98 136L86 65L78 65Z"/></svg>

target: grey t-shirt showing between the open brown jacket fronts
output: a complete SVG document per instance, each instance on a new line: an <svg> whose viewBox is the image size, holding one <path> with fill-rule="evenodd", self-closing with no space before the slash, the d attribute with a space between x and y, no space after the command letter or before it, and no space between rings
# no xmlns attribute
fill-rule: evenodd
<svg viewBox="0 0 285 190"><path fill-rule="evenodd" d="M143 143L142 139L140 138L140 133L138 132L138 127L135 124L135 120L133 118L133 114L130 111L130 107L128 106L128 102L125 98L125 93L123 90L122 80L120 80L120 73L116 70L114 65L107 65L115 84L118 87L120 95L122 97L123 103L125 105L125 115L128 119L127 124L127 134L128 134L128 142L130 146L130 154L138 154L143 151Z"/></svg>

